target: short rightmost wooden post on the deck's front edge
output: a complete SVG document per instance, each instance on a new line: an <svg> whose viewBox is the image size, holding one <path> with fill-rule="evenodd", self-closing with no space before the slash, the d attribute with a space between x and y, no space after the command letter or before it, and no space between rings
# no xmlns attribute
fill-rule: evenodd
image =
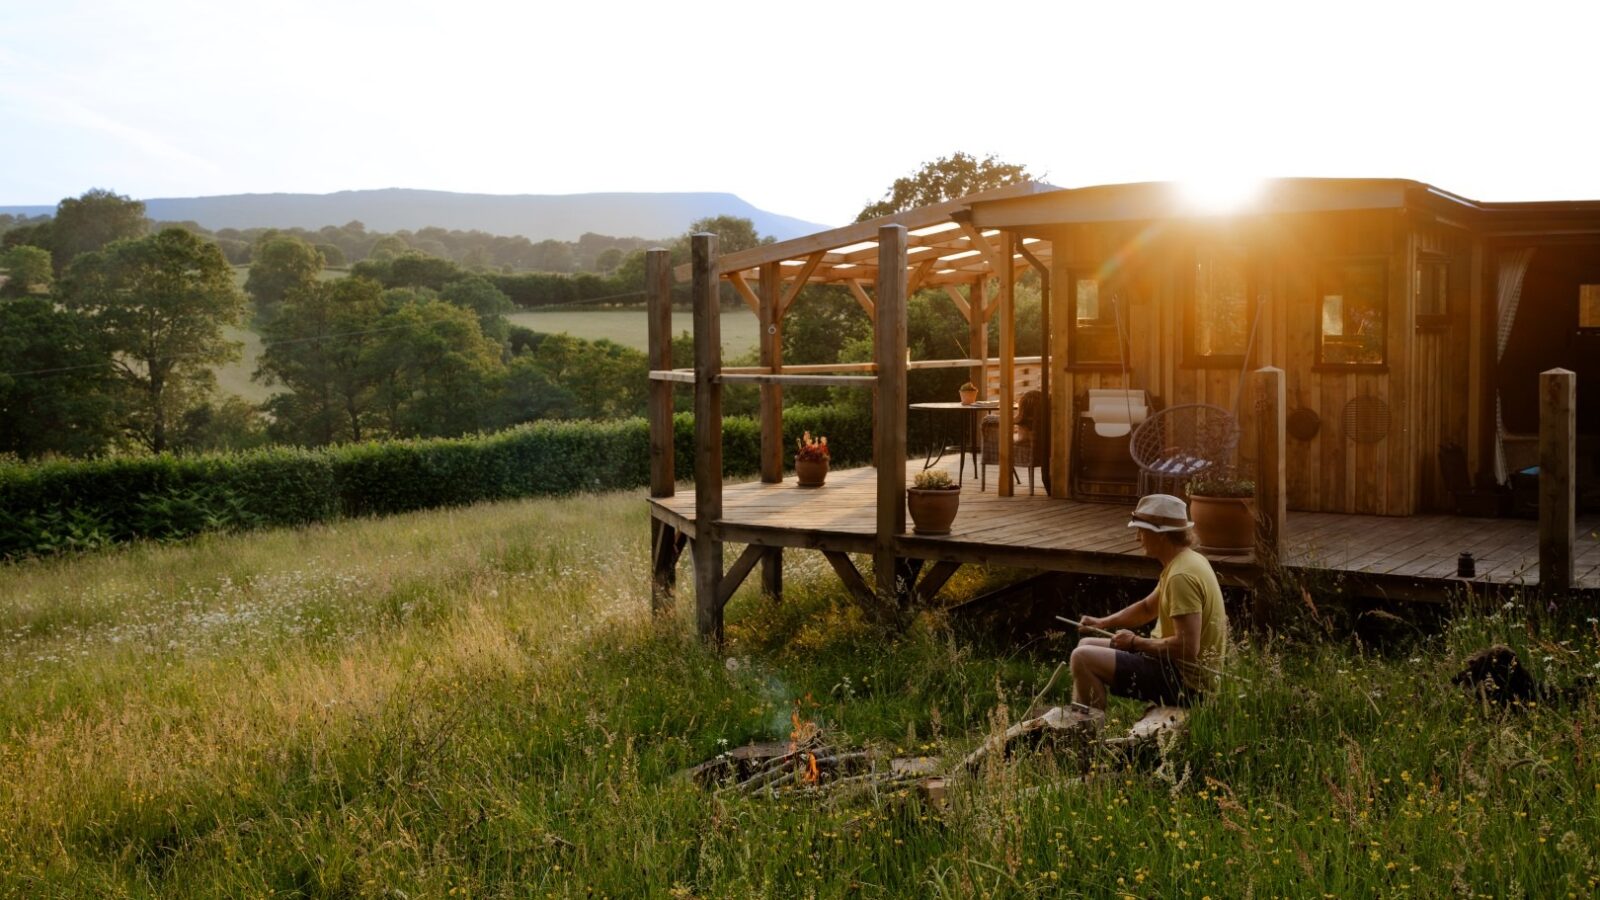
<svg viewBox="0 0 1600 900"><path fill-rule="evenodd" d="M1578 375L1566 368L1539 373L1539 589L1573 586L1578 536Z"/></svg>

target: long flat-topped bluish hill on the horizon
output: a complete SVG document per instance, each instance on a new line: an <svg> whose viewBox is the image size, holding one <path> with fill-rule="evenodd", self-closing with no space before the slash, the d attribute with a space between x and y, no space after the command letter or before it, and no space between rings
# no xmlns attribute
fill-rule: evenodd
<svg viewBox="0 0 1600 900"><path fill-rule="evenodd" d="M584 232L666 239L706 216L742 216L758 234L787 240L830 226L758 210L733 194L453 194L450 191L339 191L338 194L234 194L146 200L157 221L195 221L224 227L342 226L360 219L368 231L486 231L530 240L578 240ZM0 207L0 213L54 213L54 207Z"/></svg>

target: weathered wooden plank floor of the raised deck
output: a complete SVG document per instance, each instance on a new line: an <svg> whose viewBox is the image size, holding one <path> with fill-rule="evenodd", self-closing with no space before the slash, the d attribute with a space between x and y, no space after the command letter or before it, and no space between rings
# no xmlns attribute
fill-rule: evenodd
<svg viewBox="0 0 1600 900"><path fill-rule="evenodd" d="M954 472L952 472L954 476ZM723 487L722 541L872 552L877 472L835 469L822 488L782 484ZM694 495L651 500L656 519L693 536ZM1154 578L1157 565L1128 530L1128 506L1074 503L1021 492L1002 498L963 485L962 511L947 536L907 533L896 552L910 559L1018 565L1051 572ZM1600 517L1579 517L1574 585L1600 589ZM1539 580L1539 528L1526 519L1454 516L1344 516L1290 512L1283 564L1290 570L1341 573L1347 585L1376 596L1438 599L1459 589L1456 557L1472 551L1480 586L1530 586ZM1258 577L1254 560L1213 557L1218 575L1235 585Z"/></svg>

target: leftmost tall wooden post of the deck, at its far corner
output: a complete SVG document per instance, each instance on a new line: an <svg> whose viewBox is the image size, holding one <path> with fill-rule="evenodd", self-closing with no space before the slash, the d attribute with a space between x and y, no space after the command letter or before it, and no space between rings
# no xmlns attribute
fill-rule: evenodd
<svg viewBox="0 0 1600 900"><path fill-rule="evenodd" d="M650 335L650 368L672 368L672 253L669 250L645 251L645 307ZM650 496L677 493L677 476L672 458L672 383L650 383ZM662 610L672 604L677 588L675 552L661 548L674 546L677 533L661 519L650 519L651 554L650 609Z"/></svg>

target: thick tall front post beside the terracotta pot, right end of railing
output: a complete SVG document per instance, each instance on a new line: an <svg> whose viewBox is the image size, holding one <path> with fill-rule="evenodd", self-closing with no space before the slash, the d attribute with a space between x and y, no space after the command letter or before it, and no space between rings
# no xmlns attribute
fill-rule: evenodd
<svg viewBox="0 0 1600 900"><path fill-rule="evenodd" d="M896 609L909 596L894 556L906 533L906 227L878 229L878 285L872 330L878 365L872 464L878 476L877 551L872 569L878 602ZM893 605L890 605L893 604Z"/></svg>

